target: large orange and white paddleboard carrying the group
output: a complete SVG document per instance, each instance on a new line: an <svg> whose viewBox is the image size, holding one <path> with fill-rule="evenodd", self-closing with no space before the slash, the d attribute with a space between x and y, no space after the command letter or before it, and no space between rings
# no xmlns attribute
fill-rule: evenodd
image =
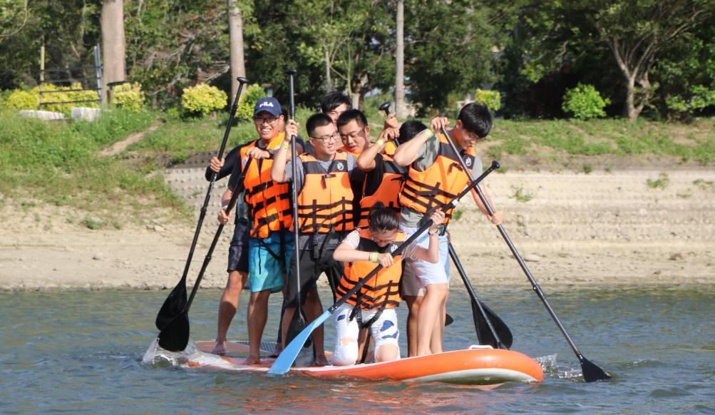
<svg viewBox="0 0 715 415"><path fill-rule="evenodd" d="M268 371L274 361L273 358L265 357L261 359L261 364L246 365L245 358L232 356L235 353L248 351L245 341L229 342L225 356L210 353L213 346L212 341L199 341L197 349L203 353L189 356L187 365L192 368L264 373ZM275 344L264 343L261 348L262 354L270 355L275 349ZM401 358L381 363L293 367L289 373L327 379L440 381L474 385L543 381L543 369L533 358L518 351L495 349L490 346L470 346L464 350Z"/></svg>

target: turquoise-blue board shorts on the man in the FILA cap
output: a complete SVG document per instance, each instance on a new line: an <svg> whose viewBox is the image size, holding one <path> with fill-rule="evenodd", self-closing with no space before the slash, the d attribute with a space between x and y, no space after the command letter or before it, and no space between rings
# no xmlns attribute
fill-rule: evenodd
<svg viewBox="0 0 715 415"><path fill-rule="evenodd" d="M293 245L293 235L287 230L272 232L268 238L248 239L248 280L252 293L263 290L277 293L283 288Z"/></svg>

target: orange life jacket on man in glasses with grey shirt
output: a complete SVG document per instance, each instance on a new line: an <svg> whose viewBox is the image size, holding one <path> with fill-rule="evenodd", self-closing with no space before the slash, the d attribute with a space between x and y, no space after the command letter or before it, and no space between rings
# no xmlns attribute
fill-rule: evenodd
<svg viewBox="0 0 715 415"><path fill-rule="evenodd" d="M298 191L300 233L331 233L352 230L352 189L347 171L347 153L338 150L328 171L310 154L298 156L305 180Z"/></svg>

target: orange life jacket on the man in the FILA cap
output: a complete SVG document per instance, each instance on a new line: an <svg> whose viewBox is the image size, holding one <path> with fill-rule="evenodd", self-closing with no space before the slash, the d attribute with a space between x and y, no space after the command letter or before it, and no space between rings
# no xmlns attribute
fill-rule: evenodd
<svg viewBox="0 0 715 415"><path fill-rule="evenodd" d="M281 132L268 143L266 148L275 150L283 142L284 137L285 133ZM290 228L293 220L290 187L287 183L276 183L271 180L272 159L248 160L246 153L257 144L258 140L241 149L241 160L244 166L248 166L243 179L244 200L249 209L249 218L252 218L250 235L252 238L268 238L271 232Z"/></svg>

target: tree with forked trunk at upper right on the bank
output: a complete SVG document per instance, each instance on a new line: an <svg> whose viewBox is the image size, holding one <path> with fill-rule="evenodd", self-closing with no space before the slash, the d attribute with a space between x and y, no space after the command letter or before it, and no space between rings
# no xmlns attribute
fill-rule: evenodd
<svg viewBox="0 0 715 415"><path fill-rule="evenodd" d="M692 31L715 9L713 0L533 1L521 10L524 71L534 82L607 47L621 72L623 114L635 120L656 90L651 83L664 48Z"/></svg>

